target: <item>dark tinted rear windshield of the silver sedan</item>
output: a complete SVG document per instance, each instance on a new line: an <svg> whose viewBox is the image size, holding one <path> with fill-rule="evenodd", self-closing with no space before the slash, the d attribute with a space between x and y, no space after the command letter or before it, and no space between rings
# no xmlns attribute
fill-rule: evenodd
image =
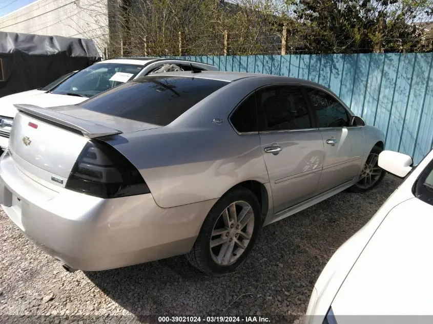
<svg viewBox="0 0 433 324"><path fill-rule="evenodd" d="M228 83L196 77L147 76L78 105L102 114L165 126Z"/></svg>

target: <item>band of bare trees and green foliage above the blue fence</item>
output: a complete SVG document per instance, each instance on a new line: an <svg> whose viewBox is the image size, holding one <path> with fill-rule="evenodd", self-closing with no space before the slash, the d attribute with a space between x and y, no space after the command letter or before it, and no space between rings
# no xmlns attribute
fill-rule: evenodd
<svg viewBox="0 0 433 324"><path fill-rule="evenodd" d="M431 49L422 26L433 0L105 1L86 10L108 26L110 56L280 54L283 26L288 53Z"/></svg>

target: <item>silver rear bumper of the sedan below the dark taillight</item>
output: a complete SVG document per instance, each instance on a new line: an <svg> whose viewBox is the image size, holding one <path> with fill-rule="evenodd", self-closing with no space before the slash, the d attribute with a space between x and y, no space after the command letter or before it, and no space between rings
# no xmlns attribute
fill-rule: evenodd
<svg viewBox="0 0 433 324"><path fill-rule="evenodd" d="M74 269L98 271L190 251L216 200L160 208L151 194L100 199L49 189L0 158L0 204L36 245Z"/></svg>

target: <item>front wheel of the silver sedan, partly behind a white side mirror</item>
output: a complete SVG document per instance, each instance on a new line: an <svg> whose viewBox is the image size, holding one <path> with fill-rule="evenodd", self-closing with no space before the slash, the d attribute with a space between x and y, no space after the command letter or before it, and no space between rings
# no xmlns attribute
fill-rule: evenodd
<svg viewBox="0 0 433 324"><path fill-rule="evenodd" d="M379 146L374 146L362 167L359 181L349 188L352 192L368 192L376 188L385 177L385 170L379 167L379 154L383 151Z"/></svg>

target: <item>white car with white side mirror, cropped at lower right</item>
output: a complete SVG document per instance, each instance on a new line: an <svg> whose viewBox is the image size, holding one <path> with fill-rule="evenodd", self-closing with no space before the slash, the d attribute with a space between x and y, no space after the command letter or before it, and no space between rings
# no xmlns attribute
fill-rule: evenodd
<svg viewBox="0 0 433 324"><path fill-rule="evenodd" d="M314 286L306 324L431 322L389 317L433 315L433 151L412 165L407 155L380 153L379 166L406 179L331 257Z"/></svg>

